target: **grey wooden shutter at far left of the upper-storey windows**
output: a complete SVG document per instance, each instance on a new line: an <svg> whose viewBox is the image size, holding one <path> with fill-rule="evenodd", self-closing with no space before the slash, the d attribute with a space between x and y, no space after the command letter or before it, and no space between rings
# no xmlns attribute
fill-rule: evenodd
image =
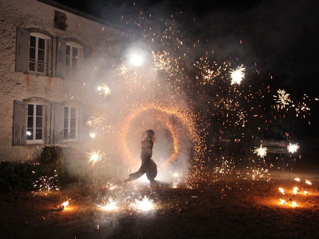
<svg viewBox="0 0 319 239"><path fill-rule="evenodd" d="M16 28L15 71L27 72L29 66L30 33L20 27Z"/></svg>

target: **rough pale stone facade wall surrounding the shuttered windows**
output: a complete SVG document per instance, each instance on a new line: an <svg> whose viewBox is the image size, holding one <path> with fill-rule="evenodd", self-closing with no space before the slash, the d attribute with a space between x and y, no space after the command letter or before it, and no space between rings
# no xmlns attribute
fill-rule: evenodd
<svg viewBox="0 0 319 239"><path fill-rule="evenodd" d="M54 10L67 16L67 28L54 28ZM84 60L80 78L61 79L15 72L16 27L45 30L53 37L74 38L92 52ZM129 44L131 36L98 22L72 14L36 0L0 1L0 161L26 160L43 144L12 146L13 101L41 97L48 101L83 105L85 115L94 110L101 97L96 88L111 71L114 59ZM85 120L85 119L84 119ZM85 133L85 132L84 132ZM83 136L85 138L85 135ZM82 142L66 143L85 150Z"/></svg>

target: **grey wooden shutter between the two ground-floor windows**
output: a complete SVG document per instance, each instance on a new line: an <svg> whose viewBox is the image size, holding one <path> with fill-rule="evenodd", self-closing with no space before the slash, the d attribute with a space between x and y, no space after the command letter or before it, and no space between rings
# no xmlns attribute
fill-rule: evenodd
<svg viewBox="0 0 319 239"><path fill-rule="evenodd" d="M63 143L63 106L53 104L51 111L51 137L50 143Z"/></svg>

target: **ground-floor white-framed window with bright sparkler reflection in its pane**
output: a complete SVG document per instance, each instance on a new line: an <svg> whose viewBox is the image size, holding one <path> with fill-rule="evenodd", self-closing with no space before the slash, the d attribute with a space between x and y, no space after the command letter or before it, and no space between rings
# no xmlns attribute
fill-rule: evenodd
<svg viewBox="0 0 319 239"><path fill-rule="evenodd" d="M44 143L44 107L40 104L27 104L27 143Z"/></svg>

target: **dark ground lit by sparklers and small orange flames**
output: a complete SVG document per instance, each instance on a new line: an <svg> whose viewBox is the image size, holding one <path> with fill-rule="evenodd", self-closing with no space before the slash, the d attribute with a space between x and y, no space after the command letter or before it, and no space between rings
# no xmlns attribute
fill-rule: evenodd
<svg viewBox="0 0 319 239"><path fill-rule="evenodd" d="M10 193L0 195L1 237L6 239L102 239L102 238L317 238L319 223L318 164L297 169L273 169L272 179L238 179L199 184L198 188L171 188L161 183L131 183L110 190L102 183L69 185L47 195ZM300 177L303 181L294 180ZM294 197L299 204L281 205L278 191L292 195L304 180L309 195ZM130 207L134 198L147 195L156 208L140 212ZM103 196L121 201L114 212L95 203ZM58 211L63 201L70 205Z"/></svg>

